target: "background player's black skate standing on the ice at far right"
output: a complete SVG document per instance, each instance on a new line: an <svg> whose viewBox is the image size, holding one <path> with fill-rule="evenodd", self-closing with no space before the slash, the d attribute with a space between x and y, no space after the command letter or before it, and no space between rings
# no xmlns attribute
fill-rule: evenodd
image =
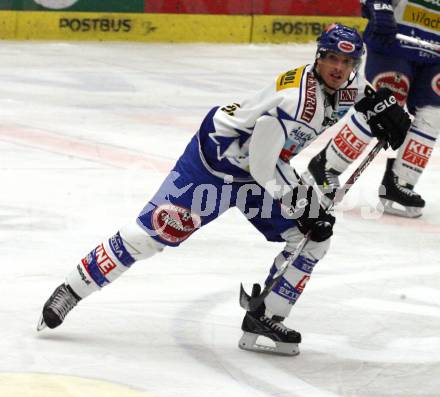
<svg viewBox="0 0 440 397"><path fill-rule="evenodd" d="M387 214L417 218L422 215L425 200L413 191L414 186L399 183L399 178L393 171L393 164L394 159L387 160L387 167L382 179L383 188L379 190L384 211Z"/></svg>

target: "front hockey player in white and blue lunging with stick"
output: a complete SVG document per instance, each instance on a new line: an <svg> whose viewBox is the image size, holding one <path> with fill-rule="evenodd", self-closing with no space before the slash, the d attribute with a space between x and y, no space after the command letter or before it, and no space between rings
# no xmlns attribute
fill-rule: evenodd
<svg viewBox="0 0 440 397"><path fill-rule="evenodd" d="M387 90L364 97L357 74L363 51L356 30L332 25L319 38L313 65L281 74L242 102L213 108L136 221L94 248L50 296L38 330L59 326L80 300L115 281L136 261L179 246L237 206L267 240L286 243L266 282L303 236L310 235L282 282L256 311L246 313L240 342L243 349L258 350L257 337L266 336L275 341L275 353L297 354L301 335L283 320L327 252L335 219L312 200L316 196L310 186L300 185L289 160L333 124L336 131L349 128L395 148L409 128L408 115ZM336 123L356 98L357 110Z"/></svg>

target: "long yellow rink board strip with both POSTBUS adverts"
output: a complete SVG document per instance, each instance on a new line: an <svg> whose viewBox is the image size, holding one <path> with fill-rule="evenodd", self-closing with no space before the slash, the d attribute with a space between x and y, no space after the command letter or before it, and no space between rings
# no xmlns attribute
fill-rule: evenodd
<svg viewBox="0 0 440 397"><path fill-rule="evenodd" d="M0 12L0 38L141 42L305 43L335 21L363 30L358 17Z"/></svg>

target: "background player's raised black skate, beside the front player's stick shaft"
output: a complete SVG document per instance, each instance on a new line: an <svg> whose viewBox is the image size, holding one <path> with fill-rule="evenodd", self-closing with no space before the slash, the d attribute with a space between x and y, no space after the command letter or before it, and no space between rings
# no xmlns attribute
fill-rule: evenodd
<svg viewBox="0 0 440 397"><path fill-rule="evenodd" d="M339 175L341 173L328 166L325 155L327 147L328 145L310 160L308 172L303 174L303 178L310 185L316 184L325 196L333 200L336 190L340 187Z"/></svg>

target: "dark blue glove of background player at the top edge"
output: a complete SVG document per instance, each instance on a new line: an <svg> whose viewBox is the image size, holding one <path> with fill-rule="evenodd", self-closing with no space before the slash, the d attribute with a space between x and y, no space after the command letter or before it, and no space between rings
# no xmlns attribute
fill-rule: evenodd
<svg viewBox="0 0 440 397"><path fill-rule="evenodd" d="M369 36L381 45L389 46L396 39L397 24L391 0L366 0L363 14L369 21Z"/></svg>

